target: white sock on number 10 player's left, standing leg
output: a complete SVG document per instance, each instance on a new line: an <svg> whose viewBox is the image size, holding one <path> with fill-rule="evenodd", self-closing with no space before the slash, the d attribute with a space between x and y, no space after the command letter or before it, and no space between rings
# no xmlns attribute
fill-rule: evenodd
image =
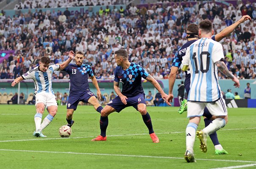
<svg viewBox="0 0 256 169"><path fill-rule="evenodd" d="M198 128L198 125L195 123L189 123L186 126L186 150L189 150L190 153L194 153L193 147L195 143L195 132Z"/></svg>

